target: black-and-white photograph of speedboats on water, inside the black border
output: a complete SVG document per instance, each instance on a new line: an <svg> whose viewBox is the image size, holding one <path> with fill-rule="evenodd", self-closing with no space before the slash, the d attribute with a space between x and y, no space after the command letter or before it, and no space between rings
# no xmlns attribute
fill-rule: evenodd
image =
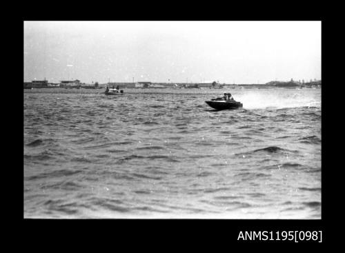
<svg viewBox="0 0 345 253"><path fill-rule="evenodd" d="M321 220L321 101L322 21L23 21L23 218Z"/></svg>

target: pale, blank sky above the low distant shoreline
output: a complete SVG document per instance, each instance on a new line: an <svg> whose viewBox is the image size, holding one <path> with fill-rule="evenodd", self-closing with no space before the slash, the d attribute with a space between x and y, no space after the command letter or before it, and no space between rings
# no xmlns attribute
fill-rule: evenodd
<svg viewBox="0 0 345 253"><path fill-rule="evenodd" d="M25 21L24 81L321 79L321 21Z"/></svg>

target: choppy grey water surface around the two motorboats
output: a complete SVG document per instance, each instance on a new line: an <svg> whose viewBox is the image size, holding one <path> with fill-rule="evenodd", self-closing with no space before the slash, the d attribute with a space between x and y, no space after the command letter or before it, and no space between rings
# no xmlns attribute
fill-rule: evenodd
<svg viewBox="0 0 345 253"><path fill-rule="evenodd" d="M321 90L124 92L24 91L25 217L321 218Z"/></svg>

